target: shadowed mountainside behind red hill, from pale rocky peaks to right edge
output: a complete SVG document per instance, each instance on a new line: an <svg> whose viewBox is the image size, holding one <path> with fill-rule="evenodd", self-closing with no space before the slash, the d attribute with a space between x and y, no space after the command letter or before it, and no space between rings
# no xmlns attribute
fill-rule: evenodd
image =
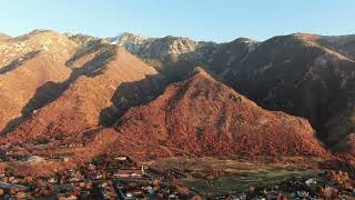
<svg viewBox="0 0 355 200"><path fill-rule="evenodd" d="M332 147L354 130L354 36L304 33L221 44L162 38L134 52L178 80L202 66L258 104L308 119L320 139ZM180 51L148 54L152 47Z"/></svg>

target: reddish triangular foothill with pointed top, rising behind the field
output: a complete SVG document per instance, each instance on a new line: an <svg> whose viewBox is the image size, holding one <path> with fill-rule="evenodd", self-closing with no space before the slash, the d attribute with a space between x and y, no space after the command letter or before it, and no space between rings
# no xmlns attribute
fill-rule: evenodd
<svg viewBox="0 0 355 200"><path fill-rule="evenodd" d="M115 133L98 133L116 138L105 144L109 151L140 159L325 153L306 120L263 110L202 69L149 104L130 109L115 127Z"/></svg>

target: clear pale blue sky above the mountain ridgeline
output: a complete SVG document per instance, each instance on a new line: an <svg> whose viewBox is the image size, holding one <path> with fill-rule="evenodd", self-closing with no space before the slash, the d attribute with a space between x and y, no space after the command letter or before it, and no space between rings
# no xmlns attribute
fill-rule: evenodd
<svg viewBox="0 0 355 200"><path fill-rule="evenodd" d="M230 41L277 34L355 33L355 0L0 0L0 32L33 29L113 37Z"/></svg>

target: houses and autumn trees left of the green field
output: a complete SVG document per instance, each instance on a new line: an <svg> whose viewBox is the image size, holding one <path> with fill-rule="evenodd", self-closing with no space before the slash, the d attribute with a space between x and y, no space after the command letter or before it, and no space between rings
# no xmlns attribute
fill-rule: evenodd
<svg viewBox="0 0 355 200"><path fill-rule="evenodd" d="M31 161L41 161L32 157ZM179 199L163 176L136 166L128 157L98 157L77 169L50 177L0 174L0 199Z"/></svg>

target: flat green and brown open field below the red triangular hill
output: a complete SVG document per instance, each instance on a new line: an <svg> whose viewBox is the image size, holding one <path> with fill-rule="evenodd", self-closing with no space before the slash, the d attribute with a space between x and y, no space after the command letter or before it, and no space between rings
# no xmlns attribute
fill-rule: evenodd
<svg viewBox="0 0 355 200"><path fill-rule="evenodd" d="M247 160L201 159L162 159L155 167L180 168L189 172L180 182L203 196L217 196L247 190L250 187L267 187L304 174L317 173L317 160L290 158L277 162L251 162ZM221 169L224 174L211 176L213 169Z"/></svg>

